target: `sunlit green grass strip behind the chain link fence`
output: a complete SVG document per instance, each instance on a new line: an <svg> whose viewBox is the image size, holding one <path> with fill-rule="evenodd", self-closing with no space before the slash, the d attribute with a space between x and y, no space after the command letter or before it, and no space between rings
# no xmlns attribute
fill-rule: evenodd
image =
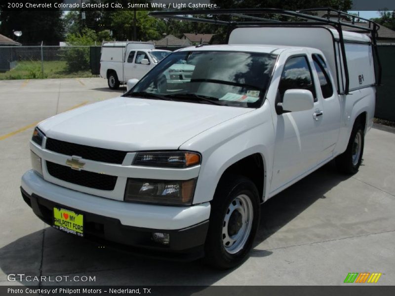
<svg viewBox="0 0 395 296"><path fill-rule="evenodd" d="M43 65L44 74L41 72L41 61L18 62L14 69L0 73L0 80L98 77L98 75L92 75L90 70L67 71L66 61L44 61Z"/></svg>

